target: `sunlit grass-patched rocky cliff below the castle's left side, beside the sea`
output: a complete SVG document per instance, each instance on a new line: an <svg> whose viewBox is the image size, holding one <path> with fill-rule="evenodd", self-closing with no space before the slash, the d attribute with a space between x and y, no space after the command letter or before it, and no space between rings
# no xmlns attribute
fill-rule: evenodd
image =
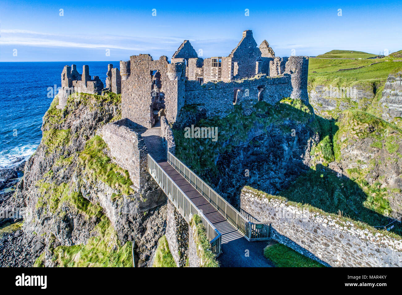
<svg viewBox="0 0 402 295"><path fill-rule="evenodd" d="M132 265L136 241L138 265L145 265L164 234L166 205L146 214L121 214L123 195L134 193L127 171L107 156L96 130L120 118L120 97L82 95L43 117L43 138L27 161L13 197L2 208L25 209L18 235L20 249L5 251L2 266ZM6 236L9 242L17 239ZM98 259L79 259L92 252ZM24 258L24 255L28 258ZM85 260L85 261L84 261ZM92 262L88 262L91 261ZM89 264L88 264L89 263Z"/></svg>

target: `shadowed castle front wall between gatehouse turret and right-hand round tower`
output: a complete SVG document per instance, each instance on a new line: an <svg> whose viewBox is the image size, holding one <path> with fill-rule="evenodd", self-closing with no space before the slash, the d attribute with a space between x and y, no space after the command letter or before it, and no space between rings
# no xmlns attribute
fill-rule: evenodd
<svg viewBox="0 0 402 295"><path fill-rule="evenodd" d="M263 101L275 104L282 98L291 95L290 75L270 78L232 81L230 83L208 83L200 85L197 81L186 81L186 104L199 104L198 108L205 109L207 116L218 115L221 118L234 110L234 91L240 89L238 102L244 110L250 109L258 102L258 86L264 86Z"/></svg>

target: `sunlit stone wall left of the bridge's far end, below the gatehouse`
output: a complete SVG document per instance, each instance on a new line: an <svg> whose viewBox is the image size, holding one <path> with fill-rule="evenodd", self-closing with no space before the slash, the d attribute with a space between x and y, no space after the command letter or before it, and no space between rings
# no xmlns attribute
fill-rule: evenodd
<svg viewBox="0 0 402 295"><path fill-rule="evenodd" d="M112 161L129 172L134 187L139 191L148 175L147 148L137 132L141 126L128 119L122 119L103 126L100 136L110 149Z"/></svg>

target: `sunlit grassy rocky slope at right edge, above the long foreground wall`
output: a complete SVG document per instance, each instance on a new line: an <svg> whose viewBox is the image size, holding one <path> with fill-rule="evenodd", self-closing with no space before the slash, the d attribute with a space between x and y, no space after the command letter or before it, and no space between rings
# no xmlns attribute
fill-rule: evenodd
<svg viewBox="0 0 402 295"><path fill-rule="evenodd" d="M335 158L343 172L367 193L367 203L385 216L402 214L402 134L394 125L359 111L336 122Z"/></svg>

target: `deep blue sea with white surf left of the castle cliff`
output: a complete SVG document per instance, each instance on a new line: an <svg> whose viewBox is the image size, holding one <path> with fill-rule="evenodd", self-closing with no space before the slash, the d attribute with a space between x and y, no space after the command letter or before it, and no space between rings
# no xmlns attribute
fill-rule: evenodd
<svg viewBox="0 0 402 295"><path fill-rule="evenodd" d="M105 84L108 63L119 67L118 61L0 62L0 168L18 165L35 152L65 65L77 65L80 73L89 65L89 74Z"/></svg>

